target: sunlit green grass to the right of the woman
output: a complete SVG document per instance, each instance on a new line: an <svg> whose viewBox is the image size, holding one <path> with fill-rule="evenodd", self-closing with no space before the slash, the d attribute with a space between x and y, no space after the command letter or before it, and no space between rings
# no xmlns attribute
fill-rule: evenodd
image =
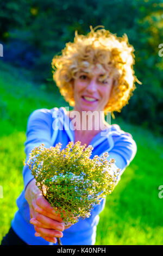
<svg viewBox="0 0 163 256"><path fill-rule="evenodd" d="M137 144L137 154L106 200L97 227L97 245L162 245L162 138L119 121Z"/></svg>

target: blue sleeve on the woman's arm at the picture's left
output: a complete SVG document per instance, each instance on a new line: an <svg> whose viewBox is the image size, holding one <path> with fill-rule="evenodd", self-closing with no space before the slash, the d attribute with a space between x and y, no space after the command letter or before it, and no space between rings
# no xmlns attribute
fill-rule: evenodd
<svg viewBox="0 0 163 256"><path fill-rule="evenodd" d="M25 153L26 161L29 159L30 151L44 143L46 148L51 147L51 126L52 118L49 109L37 109L29 115L27 122ZM34 179L31 170L27 164L23 167L24 188L26 189L28 183Z"/></svg>

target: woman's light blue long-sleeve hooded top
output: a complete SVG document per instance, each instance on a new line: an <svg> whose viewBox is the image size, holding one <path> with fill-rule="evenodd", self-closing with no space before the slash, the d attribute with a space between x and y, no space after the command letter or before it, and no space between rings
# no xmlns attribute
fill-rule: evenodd
<svg viewBox="0 0 163 256"><path fill-rule="evenodd" d="M46 148L62 144L64 149L68 142L74 143L74 129L66 109L37 109L29 115L26 132L25 153L26 161L29 159L30 151L44 143ZM92 145L92 155L101 156L108 152L108 160L114 158L114 168L120 168L121 174L133 160L137 147L130 133L124 132L120 126L113 124L97 133L89 145ZM23 167L24 190L17 198L18 210L11 222L11 227L20 238L29 245L49 245L42 237L36 237L34 225L30 224L30 211L27 200L24 197L28 183L34 179L27 165ZM62 245L95 245L96 227L99 222L99 213L104 209L105 198L101 204L94 206L89 218L73 224L63 231ZM54 244L55 245L55 244Z"/></svg>

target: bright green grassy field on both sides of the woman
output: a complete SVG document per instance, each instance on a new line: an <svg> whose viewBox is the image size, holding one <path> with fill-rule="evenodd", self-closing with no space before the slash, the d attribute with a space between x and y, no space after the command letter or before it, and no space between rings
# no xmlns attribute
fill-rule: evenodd
<svg viewBox="0 0 163 256"><path fill-rule="evenodd" d="M0 63L0 240L7 233L15 211L16 198L23 189L22 168L29 114L37 108L68 106L58 90L46 93L43 85L30 82L30 72L17 71ZM58 100L59 99L59 100ZM107 197L100 214L96 245L163 245L163 138L141 127L115 119L113 123L130 132L137 154Z"/></svg>

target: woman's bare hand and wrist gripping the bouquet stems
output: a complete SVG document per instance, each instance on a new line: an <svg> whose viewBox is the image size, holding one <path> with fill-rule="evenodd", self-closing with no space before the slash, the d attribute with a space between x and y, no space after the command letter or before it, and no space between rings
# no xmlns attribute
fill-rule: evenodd
<svg viewBox="0 0 163 256"><path fill-rule="evenodd" d="M30 209L30 223L34 224L36 230L35 236L41 236L48 242L56 243L55 237L62 237L62 231L71 227L71 224L65 227L60 214L55 212L35 185L35 179L29 182L25 197Z"/></svg>

